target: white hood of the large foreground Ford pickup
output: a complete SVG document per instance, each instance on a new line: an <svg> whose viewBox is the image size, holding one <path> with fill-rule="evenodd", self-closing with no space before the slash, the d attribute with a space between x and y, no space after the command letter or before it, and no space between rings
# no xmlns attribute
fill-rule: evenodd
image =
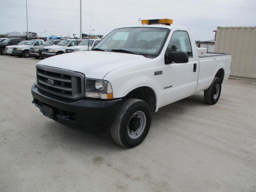
<svg viewBox="0 0 256 192"><path fill-rule="evenodd" d="M80 72L87 78L103 79L110 71L145 60L150 59L128 53L81 51L50 57L38 64Z"/></svg>

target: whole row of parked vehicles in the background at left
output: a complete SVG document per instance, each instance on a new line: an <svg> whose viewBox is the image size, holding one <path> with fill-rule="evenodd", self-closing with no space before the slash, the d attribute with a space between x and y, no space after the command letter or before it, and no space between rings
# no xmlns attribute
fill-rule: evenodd
<svg viewBox="0 0 256 192"><path fill-rule="evenodd" d="M0 39L1 40L1 39ZM1 55L45 59L63 53L91 50L101 39L87 40L25 40L22 38L6 39L0 43Z"/></svg>

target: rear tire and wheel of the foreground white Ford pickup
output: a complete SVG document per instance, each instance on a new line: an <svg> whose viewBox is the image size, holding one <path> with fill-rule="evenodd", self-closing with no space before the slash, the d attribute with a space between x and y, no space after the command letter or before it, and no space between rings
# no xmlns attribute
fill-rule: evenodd
<svg viewBox="0 0 256 192"><path fill-rule="evenodd" d="M212 81L212 84L208 89L204 90L204 102L209 105L214 105L218 102L222 90L221 79L215 77Z"/></svg>

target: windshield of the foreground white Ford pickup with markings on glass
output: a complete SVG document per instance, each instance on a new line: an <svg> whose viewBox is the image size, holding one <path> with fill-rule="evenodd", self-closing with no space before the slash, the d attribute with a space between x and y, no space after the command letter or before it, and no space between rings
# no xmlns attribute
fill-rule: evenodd
<svg viewBox="0 0 256 192"><path fill-rule="evenodd" d="M160 54L168 33L169 29L158 27L115 29L101 40L94 49L156 56Z"/></svg>

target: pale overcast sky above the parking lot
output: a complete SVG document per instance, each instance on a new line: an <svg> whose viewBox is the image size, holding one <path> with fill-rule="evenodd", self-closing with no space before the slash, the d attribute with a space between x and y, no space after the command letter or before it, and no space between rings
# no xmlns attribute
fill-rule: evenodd
<svg viewBox="0 0 256 192"><path fill-rule="evenodd" d="M194 40L214 39L217 26L256 26L256 0L82 0L82 33L106 36L139 19L172 19ZM0 34L80 37L80 0L0 0ZM46 31L46 32L45 32Z"/></svg>

